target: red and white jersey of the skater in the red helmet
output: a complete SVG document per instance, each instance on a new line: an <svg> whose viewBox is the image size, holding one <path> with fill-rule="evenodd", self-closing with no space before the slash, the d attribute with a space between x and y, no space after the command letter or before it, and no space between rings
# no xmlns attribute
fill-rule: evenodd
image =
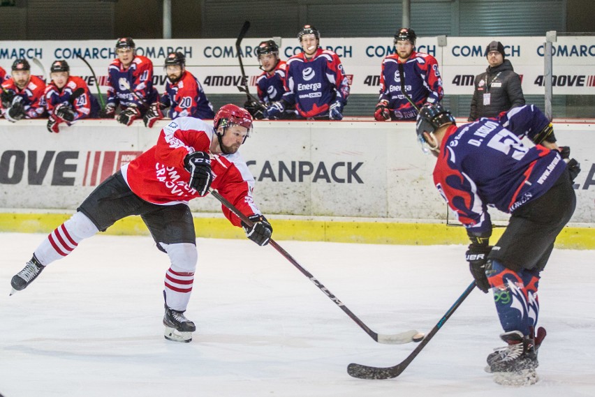
<svg viewBox="0 0 595 397"><path fill-rule="evenodd" d="M193 151L210 151L214 139L217 137L212 126L193 117L179 117L161 130L154 147L122 167L122 176L142 200L161 205L187 204L201 196L188 186L190 173L184 168L184 157ZM252 199L254 177L240 153L212 154L211 172L211 187L242 214L260 214ZM222 209L233 225L241 225L240 218L226 207Z"/></svg>

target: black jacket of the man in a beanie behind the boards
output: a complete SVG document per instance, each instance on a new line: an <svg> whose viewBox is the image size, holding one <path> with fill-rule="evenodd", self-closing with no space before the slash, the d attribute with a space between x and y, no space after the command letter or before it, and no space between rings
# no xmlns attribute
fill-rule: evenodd
<svg viewBox="0 0 595 397"><path fill-rule="evenodd" d="M484 93L490 93L490 105L483 105ZM469 121L480 117L497 117L511 107L524 105L521 81L513 64L504 59L499 66L488 66L485 73L475 77L475 91L471 100Z"/></svg>

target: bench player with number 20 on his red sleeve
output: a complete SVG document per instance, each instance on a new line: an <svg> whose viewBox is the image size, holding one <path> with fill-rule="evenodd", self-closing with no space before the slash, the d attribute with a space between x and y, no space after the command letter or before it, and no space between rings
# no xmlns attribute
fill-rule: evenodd
<svg viewBox="0 0 595 397"><path fill-rule="evenodd" d="M146 127L152 128L155 121L163 119L163 110L168 107L170 119L185 116L212 119L215 116L203 86L186 70L186 57L182 52L170 52L163 69L168 75L166 91L142 117Z"/></svg>

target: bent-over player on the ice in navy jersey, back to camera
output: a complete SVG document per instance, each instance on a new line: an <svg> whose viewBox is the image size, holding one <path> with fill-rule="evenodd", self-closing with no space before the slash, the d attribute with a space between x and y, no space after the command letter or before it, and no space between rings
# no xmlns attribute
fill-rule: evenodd
<svg viewBox="0 0 595 397"><path fill-rule="evenodd" d="M501 382L534 383L545 337L545 329L536 328L538 282L574 212L573 180L580 167L568 159L568 147L557 146L552 124L534 105L457 128L448 110L427 104L416 129L425 151L438 158L436 188L471 239L466 253L471 274L480 290L494 294L508 345L487 357L486 370ZM535 146L525 146L525 136ZM510 214L493 247L487 207Z"/></svg>

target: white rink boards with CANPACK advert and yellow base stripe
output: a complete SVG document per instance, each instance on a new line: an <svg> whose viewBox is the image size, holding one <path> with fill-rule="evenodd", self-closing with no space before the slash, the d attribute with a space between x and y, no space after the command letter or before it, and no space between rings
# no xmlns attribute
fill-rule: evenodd
<svg viewBox="0 0 595 397"><path fill-rule="evenodd" d="M125 127L89 120L50 134L43 120L1 120L2 230L22 230L36 222L43 228L41 218L49 216L24 219L16 214L71 213L105 177L151 147L165 123L148 129L141 121ZM571 220L582 230L569 245L595 246L590 229L595 224L594 124L564 122L554 128L582 167ZM432 181L434 158L420 151L412 122L257 121L240 151L256 179L256 202L281 227L277 238L438 244L434 240L440 236L446 239L440 244L448 244L464 237L461 227L444 226L446 204ZM197 226L199 235L240 235L219 216L219 208L212 197L191 201L197 225L208 223L209 230ZM506 214L491 212L494 220L506 222ZM453 221L450 214L448 223ZM128 228L145 232L140 223ZM585 236L586 243L576 243Z"/></svg>

